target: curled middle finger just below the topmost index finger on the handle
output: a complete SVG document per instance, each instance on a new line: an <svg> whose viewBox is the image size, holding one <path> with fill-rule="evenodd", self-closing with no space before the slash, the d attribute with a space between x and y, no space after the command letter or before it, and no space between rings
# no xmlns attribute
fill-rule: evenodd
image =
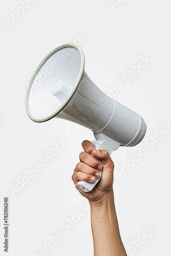
<svg viewBox="0 0 171 256"><path fill-rule="evenodd" d="M99 161L94 158L94 156L90 155L87 152L81 152L81 154L79 155L79 159L81 162L91 166L92 168L95 168L99 171L102 169L102 164L100 164Z"/></svg>

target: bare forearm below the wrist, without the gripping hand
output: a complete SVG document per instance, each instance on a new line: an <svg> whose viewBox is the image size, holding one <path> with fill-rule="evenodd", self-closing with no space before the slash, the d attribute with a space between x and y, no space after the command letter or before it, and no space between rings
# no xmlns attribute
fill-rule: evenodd
<svg viewBox="0 0 171 256"><path fill-rule="evenodd" d="M90 202L94 256L126 256L121 241L113 190L100 201Z"/></svg>

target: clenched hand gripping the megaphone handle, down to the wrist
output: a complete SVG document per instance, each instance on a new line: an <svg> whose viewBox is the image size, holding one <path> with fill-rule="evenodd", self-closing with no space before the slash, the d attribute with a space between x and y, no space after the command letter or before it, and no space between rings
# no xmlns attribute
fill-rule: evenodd
<svg viewBox="0 0 171 256"><path fill-rule="evenodd" d="M72 179L75 183L75 187L79 190L82 196L86 197L89 202L97 202L104 198L106 193L113 194L114 163L106 150L95 150L90 141L84 140L82 142L82 147L84 152L79 156L80 162L74 169ZM101 163L99 163L95 157L100 159ZM94 182L96 175L97 178L99 178L98 174L101 169L101 179L92 191L86 193L77 185L79 180L90 183Z"/></svg>

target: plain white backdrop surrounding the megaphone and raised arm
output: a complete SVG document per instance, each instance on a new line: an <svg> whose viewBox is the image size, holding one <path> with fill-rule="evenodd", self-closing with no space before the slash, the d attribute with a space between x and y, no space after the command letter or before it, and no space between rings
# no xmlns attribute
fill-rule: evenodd
<svg viewBox="0 0 171 256"><path fill-rule="evenodd" d="M109 93L122 82L115 99L139 113L147 124L140 144L120 147L111 155L115 170L122 174L118 177L115 173L114 190L127 254L170 255L171 130L162 129L163 122L171 122L170 1L118 0L116 6L109 0L32 2L28 9L19 9L19 1L1 1L1 255L6 255L6 196L8 255L93 255L89 204L71 179L81 142L93 140L93 133L60 119L34 123L25 110L25 94L34 70L51 50L66 42L81 46L85 70L103 92ZM7 22L12 9L24 13ZM127 82L122 75L135 68L140 56L150 60ZM44 165L39 158L54 148L57 139L68 143ZM137 163L130 161L140 148L144 156L136 155ZM21 181L35 165L41 171L12 195L9 188L16 189L17 179ZM128 167L123 173L125 165ZM66 227L69 219L73 224ZM147 228L152 231L145 231ZM56 236L59 230L62 238L56 245L39 253L40 246L50 246L48 237Z"/></svg>

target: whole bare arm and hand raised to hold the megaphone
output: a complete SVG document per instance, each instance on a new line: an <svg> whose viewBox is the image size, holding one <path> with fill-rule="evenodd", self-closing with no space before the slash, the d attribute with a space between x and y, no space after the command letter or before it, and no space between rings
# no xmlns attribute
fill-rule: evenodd
<svg viewBox="0 0 171 256"><path fill-rule="evenodd" d="M90 141L83 141L82 147L84 152L79 156L80 162L72 179L80 194L90 203L94 256L126 256L114 204L114 163L106 150L95 150ZM101 160L101 164L95 157ZM91 192L86 193L77 185L79 180L94 182L101 169L102 177Z"/></svg>

